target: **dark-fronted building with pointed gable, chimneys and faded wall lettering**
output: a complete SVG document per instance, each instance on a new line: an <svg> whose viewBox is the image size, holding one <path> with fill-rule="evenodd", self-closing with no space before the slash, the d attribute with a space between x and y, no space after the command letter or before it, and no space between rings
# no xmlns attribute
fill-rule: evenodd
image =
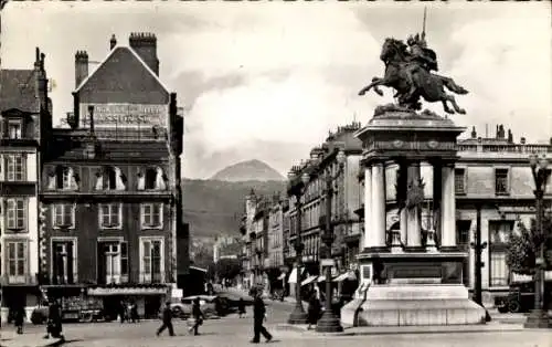
<svg viewBox="0 0 552 347"><path fill-rule="evenodd" d="M52 130L42 170L49 295L86 287L105 308L132 298L148 317L177 283L183 118L158 75L150 33L130 34L129 46L113 36L89 74L87 53L75 54L70 128Z"/></svg>

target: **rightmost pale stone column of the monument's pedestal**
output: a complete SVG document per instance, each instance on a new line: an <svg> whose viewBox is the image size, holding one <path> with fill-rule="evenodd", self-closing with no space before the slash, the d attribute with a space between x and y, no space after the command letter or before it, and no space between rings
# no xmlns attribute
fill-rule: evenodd
<svg viewBox="0 0 552 347"><path fill-rule="evenodd" d="M454 164L443 165L440 196L442 248L456 248L456 197L454 191Z"/></svg>

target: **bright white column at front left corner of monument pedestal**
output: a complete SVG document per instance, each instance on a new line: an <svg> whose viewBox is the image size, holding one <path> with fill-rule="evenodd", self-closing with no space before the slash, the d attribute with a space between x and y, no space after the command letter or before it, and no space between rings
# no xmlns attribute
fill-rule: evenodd
<svg viewBox="0 0 552 347"><path fill-rule="evenodd" d="M372 166L372 235L373 248L385 248L385 169L382 162Z"/></svg>

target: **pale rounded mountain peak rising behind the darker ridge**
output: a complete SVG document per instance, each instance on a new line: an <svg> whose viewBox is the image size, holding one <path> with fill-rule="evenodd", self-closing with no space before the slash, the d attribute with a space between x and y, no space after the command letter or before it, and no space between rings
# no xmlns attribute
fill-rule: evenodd
<svg viewBox="0 0 552 347"><path fill-rule="evenodd" d="M284 177L267 164L254 159L241 161L216 172L212 180L240 182L240 181L283 181Z"/></svg>

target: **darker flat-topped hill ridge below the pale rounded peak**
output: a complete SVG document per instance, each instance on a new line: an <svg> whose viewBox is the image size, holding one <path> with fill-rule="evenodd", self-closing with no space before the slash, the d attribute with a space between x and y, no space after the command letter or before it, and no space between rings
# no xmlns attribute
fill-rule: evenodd
<svg viewBox="0 0 552 347"><path fill-rule="evenodd" d="M251 189L257 196L285 192L285 181L243 181L182 179L184 220L194 239L238 235L240 219L245 212L245 197Z"/></svg>

